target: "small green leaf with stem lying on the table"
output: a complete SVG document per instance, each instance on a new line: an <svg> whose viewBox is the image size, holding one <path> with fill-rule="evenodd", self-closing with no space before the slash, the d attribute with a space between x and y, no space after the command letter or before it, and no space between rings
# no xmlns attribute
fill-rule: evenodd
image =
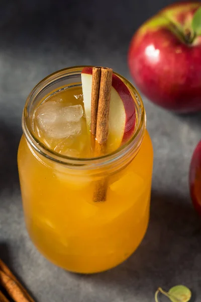
<svg viewBox="0 0 201 302"><path fill-rule="evenodd" d="M170 299L172 302L188 302L191 298L191 291L184 285L176 285L169 289L168 292L159 287L155 293L155 301L158 300L158 293L162 293Z"/></svg>

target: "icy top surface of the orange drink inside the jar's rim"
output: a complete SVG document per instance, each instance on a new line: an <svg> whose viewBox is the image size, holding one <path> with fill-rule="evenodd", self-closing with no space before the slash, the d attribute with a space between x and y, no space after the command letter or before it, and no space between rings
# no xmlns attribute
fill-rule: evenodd
<svg viewBox="0 0 201 302"><path fill-rule="evenodd" d="M37 138L55 152L74 158L90 158L90 123L84 114L80 86L60 89L36 109L33 128ZM109 135L106 154L117 148Z"/></svg>

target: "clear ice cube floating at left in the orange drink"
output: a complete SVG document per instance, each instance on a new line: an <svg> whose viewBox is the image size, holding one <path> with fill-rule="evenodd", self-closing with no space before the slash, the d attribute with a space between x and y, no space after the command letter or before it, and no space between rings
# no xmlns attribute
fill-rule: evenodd
<svg viewBox="0 0 201 302"><path fill-rule="evenodd" d="M58 102L46 102L37 109L35 117L46 136L63 138L80 133L82 115L81 105L63 107Z"/></svg>

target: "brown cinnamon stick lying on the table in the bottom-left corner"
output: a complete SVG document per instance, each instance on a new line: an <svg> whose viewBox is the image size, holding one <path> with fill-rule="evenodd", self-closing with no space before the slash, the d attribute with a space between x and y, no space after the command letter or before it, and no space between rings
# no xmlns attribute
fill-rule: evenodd
<svg viewBox="0 0 201 302"><path fill-rule="evenodd" d="M4 286L16 302L34 302L27 290L14 276L8 266L0 259L0 284ZM23 297L23 298L22 298ZM1 301L1 300L0 300Z"/></svg>

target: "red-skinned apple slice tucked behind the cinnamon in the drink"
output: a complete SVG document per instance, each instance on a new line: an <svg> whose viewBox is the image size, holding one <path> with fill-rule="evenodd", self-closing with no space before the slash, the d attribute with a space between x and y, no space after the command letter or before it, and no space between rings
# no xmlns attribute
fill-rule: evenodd
<svg viewBox="0 0 201 302"><path fill-rule="evenodd" d="M81 72L84 111L87 125L91 120L92 67ZM135 103L126 84L113 73L107 151L113 152L133 134L136 123Z"/></svg>

